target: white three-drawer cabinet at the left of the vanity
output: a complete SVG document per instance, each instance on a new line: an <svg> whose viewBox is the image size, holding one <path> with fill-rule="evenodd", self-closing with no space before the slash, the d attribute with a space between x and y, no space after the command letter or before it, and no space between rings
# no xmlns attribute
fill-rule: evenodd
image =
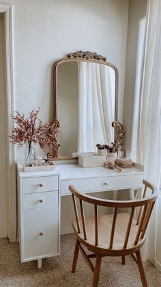
<svg viewBox="0 0 161 287"><path fill-rule="evenodd" d="M18 236L21 261L59 255L59 173L24 173L18 166Z"/></svg>

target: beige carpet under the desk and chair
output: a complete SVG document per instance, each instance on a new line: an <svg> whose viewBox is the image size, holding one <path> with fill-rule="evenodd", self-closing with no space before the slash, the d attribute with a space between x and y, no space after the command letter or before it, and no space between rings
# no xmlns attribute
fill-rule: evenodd
<svg viewBox="0 0 161 287"><path fill-rule="evenodd" d="M71 273L74 234L61 236L61 255L43 260L42 269L37 261L21 263L18 243L0 240L0 286L29 287L88 287L91 286L92 273L81 255L78 257L76 273ZM99 287L139 287L141 279L138 267L128 256L126 265L121 258L103 258ZM151 262L145 262L149 287L161 286L161 273Z"/></svg>

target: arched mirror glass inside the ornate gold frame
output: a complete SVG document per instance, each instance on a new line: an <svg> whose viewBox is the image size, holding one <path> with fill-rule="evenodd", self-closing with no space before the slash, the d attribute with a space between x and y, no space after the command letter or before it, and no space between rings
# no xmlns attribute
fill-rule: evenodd
<svg viewBox="0 0 161 287"><path fill-rule="evenodd" d="M59 155L97 151L114 142L116 72L107 64L62 61L57 65Z"/></svg>

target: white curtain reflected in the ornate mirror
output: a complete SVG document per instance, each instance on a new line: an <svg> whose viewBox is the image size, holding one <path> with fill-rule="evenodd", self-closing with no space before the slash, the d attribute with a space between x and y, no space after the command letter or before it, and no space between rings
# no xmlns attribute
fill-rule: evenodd
<svg viewBox="0 0 161 287"><path fill-rule="evenodd" d="M104 64L78 62L78 152L111 144L115 120L115 71Z"/></svg>

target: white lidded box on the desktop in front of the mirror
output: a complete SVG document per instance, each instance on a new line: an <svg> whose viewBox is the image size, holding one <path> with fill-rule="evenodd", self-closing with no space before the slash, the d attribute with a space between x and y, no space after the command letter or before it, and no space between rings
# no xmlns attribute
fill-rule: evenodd
<svg viewBox="0 0 161 287"><path fill-rule="evenodd" d="M82 167L96 167L104 166L106 162L106 155L100 153L79 153L78 154L78 164Z"/></svg>

